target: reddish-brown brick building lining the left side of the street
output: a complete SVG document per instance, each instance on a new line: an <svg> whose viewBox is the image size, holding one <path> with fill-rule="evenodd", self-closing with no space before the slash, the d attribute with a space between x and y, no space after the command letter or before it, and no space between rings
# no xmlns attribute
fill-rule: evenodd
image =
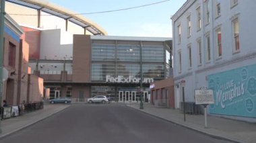
<svg viewBox="0 0 256 143"><path fill-rule="evenodd" d="M5 14L3 26L3 97L7 105L42 101L43 79L30 74L29 46L22 28ZM1 101L2 102L2 101Z"/></svg>

